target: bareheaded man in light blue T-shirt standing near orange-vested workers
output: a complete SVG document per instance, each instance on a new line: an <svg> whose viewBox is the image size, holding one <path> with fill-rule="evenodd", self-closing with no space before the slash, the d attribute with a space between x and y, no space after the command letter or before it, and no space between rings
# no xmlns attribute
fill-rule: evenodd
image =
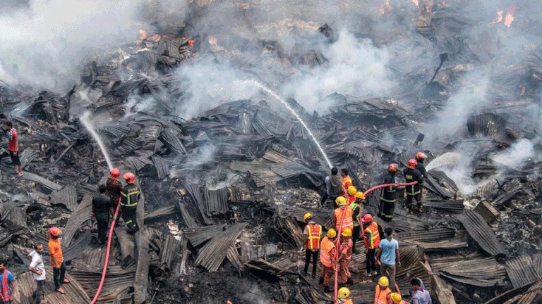
<svg viewBox="0 0 542 304"><path fill-rule="evenodd" d="M380 241L376 259L380 260L380 274L387 275L390 278L390 289L397 292L395 286L395 265L401 266L401 256L399 255L399 243L393 239L392 233L393 229L390 227L384 229L386 238Z"/></svg>

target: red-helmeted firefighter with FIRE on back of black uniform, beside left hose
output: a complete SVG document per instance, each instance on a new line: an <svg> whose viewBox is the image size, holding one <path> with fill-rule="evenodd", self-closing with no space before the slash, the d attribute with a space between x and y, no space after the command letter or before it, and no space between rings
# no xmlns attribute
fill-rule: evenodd
<svg viewBox="0 0 542 304"><path fill-rule="evenodd" d="M122 219L126 224L128 233L134 234L138 231L138 202L141 196L139 187L135 185L135 175L128 172L124 175L128 186L125 186L121 192Z"/></svg>

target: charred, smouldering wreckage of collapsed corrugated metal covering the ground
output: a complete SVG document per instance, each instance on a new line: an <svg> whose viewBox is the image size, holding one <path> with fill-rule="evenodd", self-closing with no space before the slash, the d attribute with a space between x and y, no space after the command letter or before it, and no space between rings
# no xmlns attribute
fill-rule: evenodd
<svg viewBox="0 0 542 304"><path fill-rule="evenodd" d="M191 5L200 9L213 2ZM393 98L337 92L321 101L334 105L325 115L308 113L294 99L287 103L331 163L350 170L360 191L381 184L389 163L404 167L417 151L428 155L428 163L435 160L428 165L423 213L406 212L399 188L393 220L375 216L399 241L397 284L404 300L409 282L419 277L433 303L541 303L541 46L525 46L521 62L502 56L489 77L487 103L469 113L460 135L428 142L431 131L423 127L453 102L451 96L472 85L459 81L462 75L502 55L494 31L539 28L540 20L522 23L521 10L505 9L478 41L466 42L459 35L474 20L462 17L459 2L411 6L402 13L418 26L404 42L415 47L409 57L389 63L401 83ZM378 12L382 18L395 13L389 1ZM329 229L332 209L318 205L330 168L299 120L264 91L192 120L175 115L193 102L175 74L181 65L228 63L263 83L266 77L254 72L260 65L274 79L327 65L319 51L285 51L252 30L241 37L250 47L239 48L210 33L155 23L133 44L89 61L80 84L65 95L0 83L1 110L18 129L24 172L11 173L2 141L0 253L16 274L16 303L32 303L25 256L34 243L47 243L53 225L64 231L71 284L64 296L47 285L49 303L90 303L97 291L105 248L93 237L90 202L109 171L80 123L87 111L96 121L108 118L95 129L113 163L134 172L143 191L140 231L131 236L114 229L98 303L332 303L318 277L301 274L303 215L312 213ZM299 32L295 23L291 30ZM327 44L337 39L328 25L311 35ZM440 65L416 61L435 50L446 51ZM220 94L208 89L208 96ZM152 108L134 110L149 99ZM133 108L126 107L128 100ZM513 166L497 161L525 141L530 157ZM452 176L461 166L464 176ZM466 191L465 179L474 189ZM380 212L377 191L366 197L362 213ZM363 252L363 242L356 247ZM354 253L354 303L374 301L377 278L366 277L365 267L365 255Z"/></svg>

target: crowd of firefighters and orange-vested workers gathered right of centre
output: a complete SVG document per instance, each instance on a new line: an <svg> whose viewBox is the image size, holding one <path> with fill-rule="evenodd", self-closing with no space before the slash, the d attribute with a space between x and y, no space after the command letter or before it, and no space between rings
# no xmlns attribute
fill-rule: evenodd
<svg viewBox="0 0 542 304"><path fill-rule="evenodd" d="M426 155L423 152L416 153L415 158L409 160L406 168L403 170L404 178L407 184L406 208L410 214L414 211L423 212L422 193L423 177L427 176L427 171L423 165ZM390 184L383 188L380 195L380 204L382 210L381 217L386 222L390 222L395 210L397 201L397 184L395 175L398 170L397 164L390 164L387 167L387 175L383 180L384 184ZM363 238L364 253L366 255L366 276L373 277L379 275L377 264L380 265L380 279L375 287L375 304L401 304L407 303L402 300L399 288L395 283L396 265L401 265L399 255L399 243L393 239L393 230L390 227L384 229L385 239L380 239L380 232L377 222L373 215L366 213L361 217L365 195L357 191L352 184L347 169L342 169L340 176L337 168L332 168L331 175L325 178L326 191L320 202L325 205L328 199L331 199L337 205L333 211L332 227L327 229L323 236L323 227L316 223L311 213L307 213L303 220L306 222L304 234L306 236L305 250L306 259L303 275L308 274L308 267L313 262L312 277L316 275L318 260L322 264L319 284L324 286L325 292L330 292L330 283L335 272L338 271L338 281L342 288L337 291L336 303L353 303L349 298L350 291L347 286L353 284L349 265L355 250L356 241ZM412 184L416 182L415 184ZM416 205L414 205L416 201ZM337 237L340 234L340 238ZM411 285L411 303L430 304L431 298L424 289L423 281L414 278Z"/></svg>

